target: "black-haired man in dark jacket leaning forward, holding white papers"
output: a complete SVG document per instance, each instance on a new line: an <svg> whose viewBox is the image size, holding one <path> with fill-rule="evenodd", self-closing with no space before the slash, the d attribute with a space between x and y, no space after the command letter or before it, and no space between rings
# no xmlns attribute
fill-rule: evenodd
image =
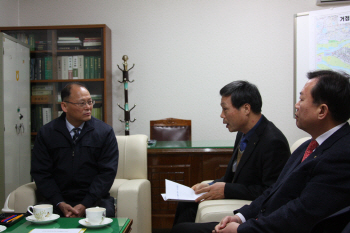
<svg viewBox="0 0 350 233"><path fill-rule="evenodd" d="M283 133L261 114L258 88L246 81L227 84L220 91L223 123L237 132L226 174L211 184L196 184L196 203L179 202L174 225L194 222L198 202L216 199L254 200L276 182L290 156Z"/></svg>

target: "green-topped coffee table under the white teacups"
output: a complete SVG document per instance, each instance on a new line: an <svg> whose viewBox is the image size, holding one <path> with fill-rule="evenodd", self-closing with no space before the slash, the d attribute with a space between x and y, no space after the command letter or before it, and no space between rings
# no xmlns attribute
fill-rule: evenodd
<svg viewBox="0 0 350 233"><path fill-rule="evenodd" d="M28 222L25 218L18 223L8 227L4 233L28 233L33 229L53 229L53 228L86 228L79 224L79 220L83 218L59 218L54 222L45 225L38 225ZM99 232L99 233L129 233L131 231L132 219L129 218L112 218L113 222L102 228L87 228L85 233Z"/></svg>

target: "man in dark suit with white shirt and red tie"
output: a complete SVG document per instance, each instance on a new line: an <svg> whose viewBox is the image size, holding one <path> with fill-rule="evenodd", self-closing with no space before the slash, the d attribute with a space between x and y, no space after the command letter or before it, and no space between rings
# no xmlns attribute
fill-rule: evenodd
<svg viewBox="0 0 350 233"><path fill-rule="evenodd" d="M220 223L183 223L173 233L308 233L350 205L350 77L327 70L308 78L295 117L312 139L293 152L276 183Z"/></svg>

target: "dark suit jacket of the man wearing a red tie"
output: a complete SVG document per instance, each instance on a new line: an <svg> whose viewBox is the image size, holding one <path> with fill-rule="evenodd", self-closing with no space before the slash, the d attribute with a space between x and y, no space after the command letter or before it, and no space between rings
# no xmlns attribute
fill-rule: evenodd
<svg viewBox="0 0 350 233"><path fill-rule="evenodd" d="M234 211L247 219L239 233L310 232L317 222L350 205L349 124L300 163L309 143L295 150L263 195Z"/></svg>

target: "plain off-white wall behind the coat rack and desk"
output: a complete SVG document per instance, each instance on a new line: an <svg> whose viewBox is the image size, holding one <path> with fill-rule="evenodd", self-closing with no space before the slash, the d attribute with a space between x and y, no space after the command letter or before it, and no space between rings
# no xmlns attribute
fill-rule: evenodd
<svg viewBox="0 0 350 233"><path fill-rule="evenodd" d="M149 135L150 120L176 117L192 119L193 140L233 139L219 118L219 90L244 79L293 143L306 136L292 117L293 17L324 8L316 0L0 0L0 25L107 24L116 134L124 133L117 64L126 54L135 63L131 134Z"/></svg>

